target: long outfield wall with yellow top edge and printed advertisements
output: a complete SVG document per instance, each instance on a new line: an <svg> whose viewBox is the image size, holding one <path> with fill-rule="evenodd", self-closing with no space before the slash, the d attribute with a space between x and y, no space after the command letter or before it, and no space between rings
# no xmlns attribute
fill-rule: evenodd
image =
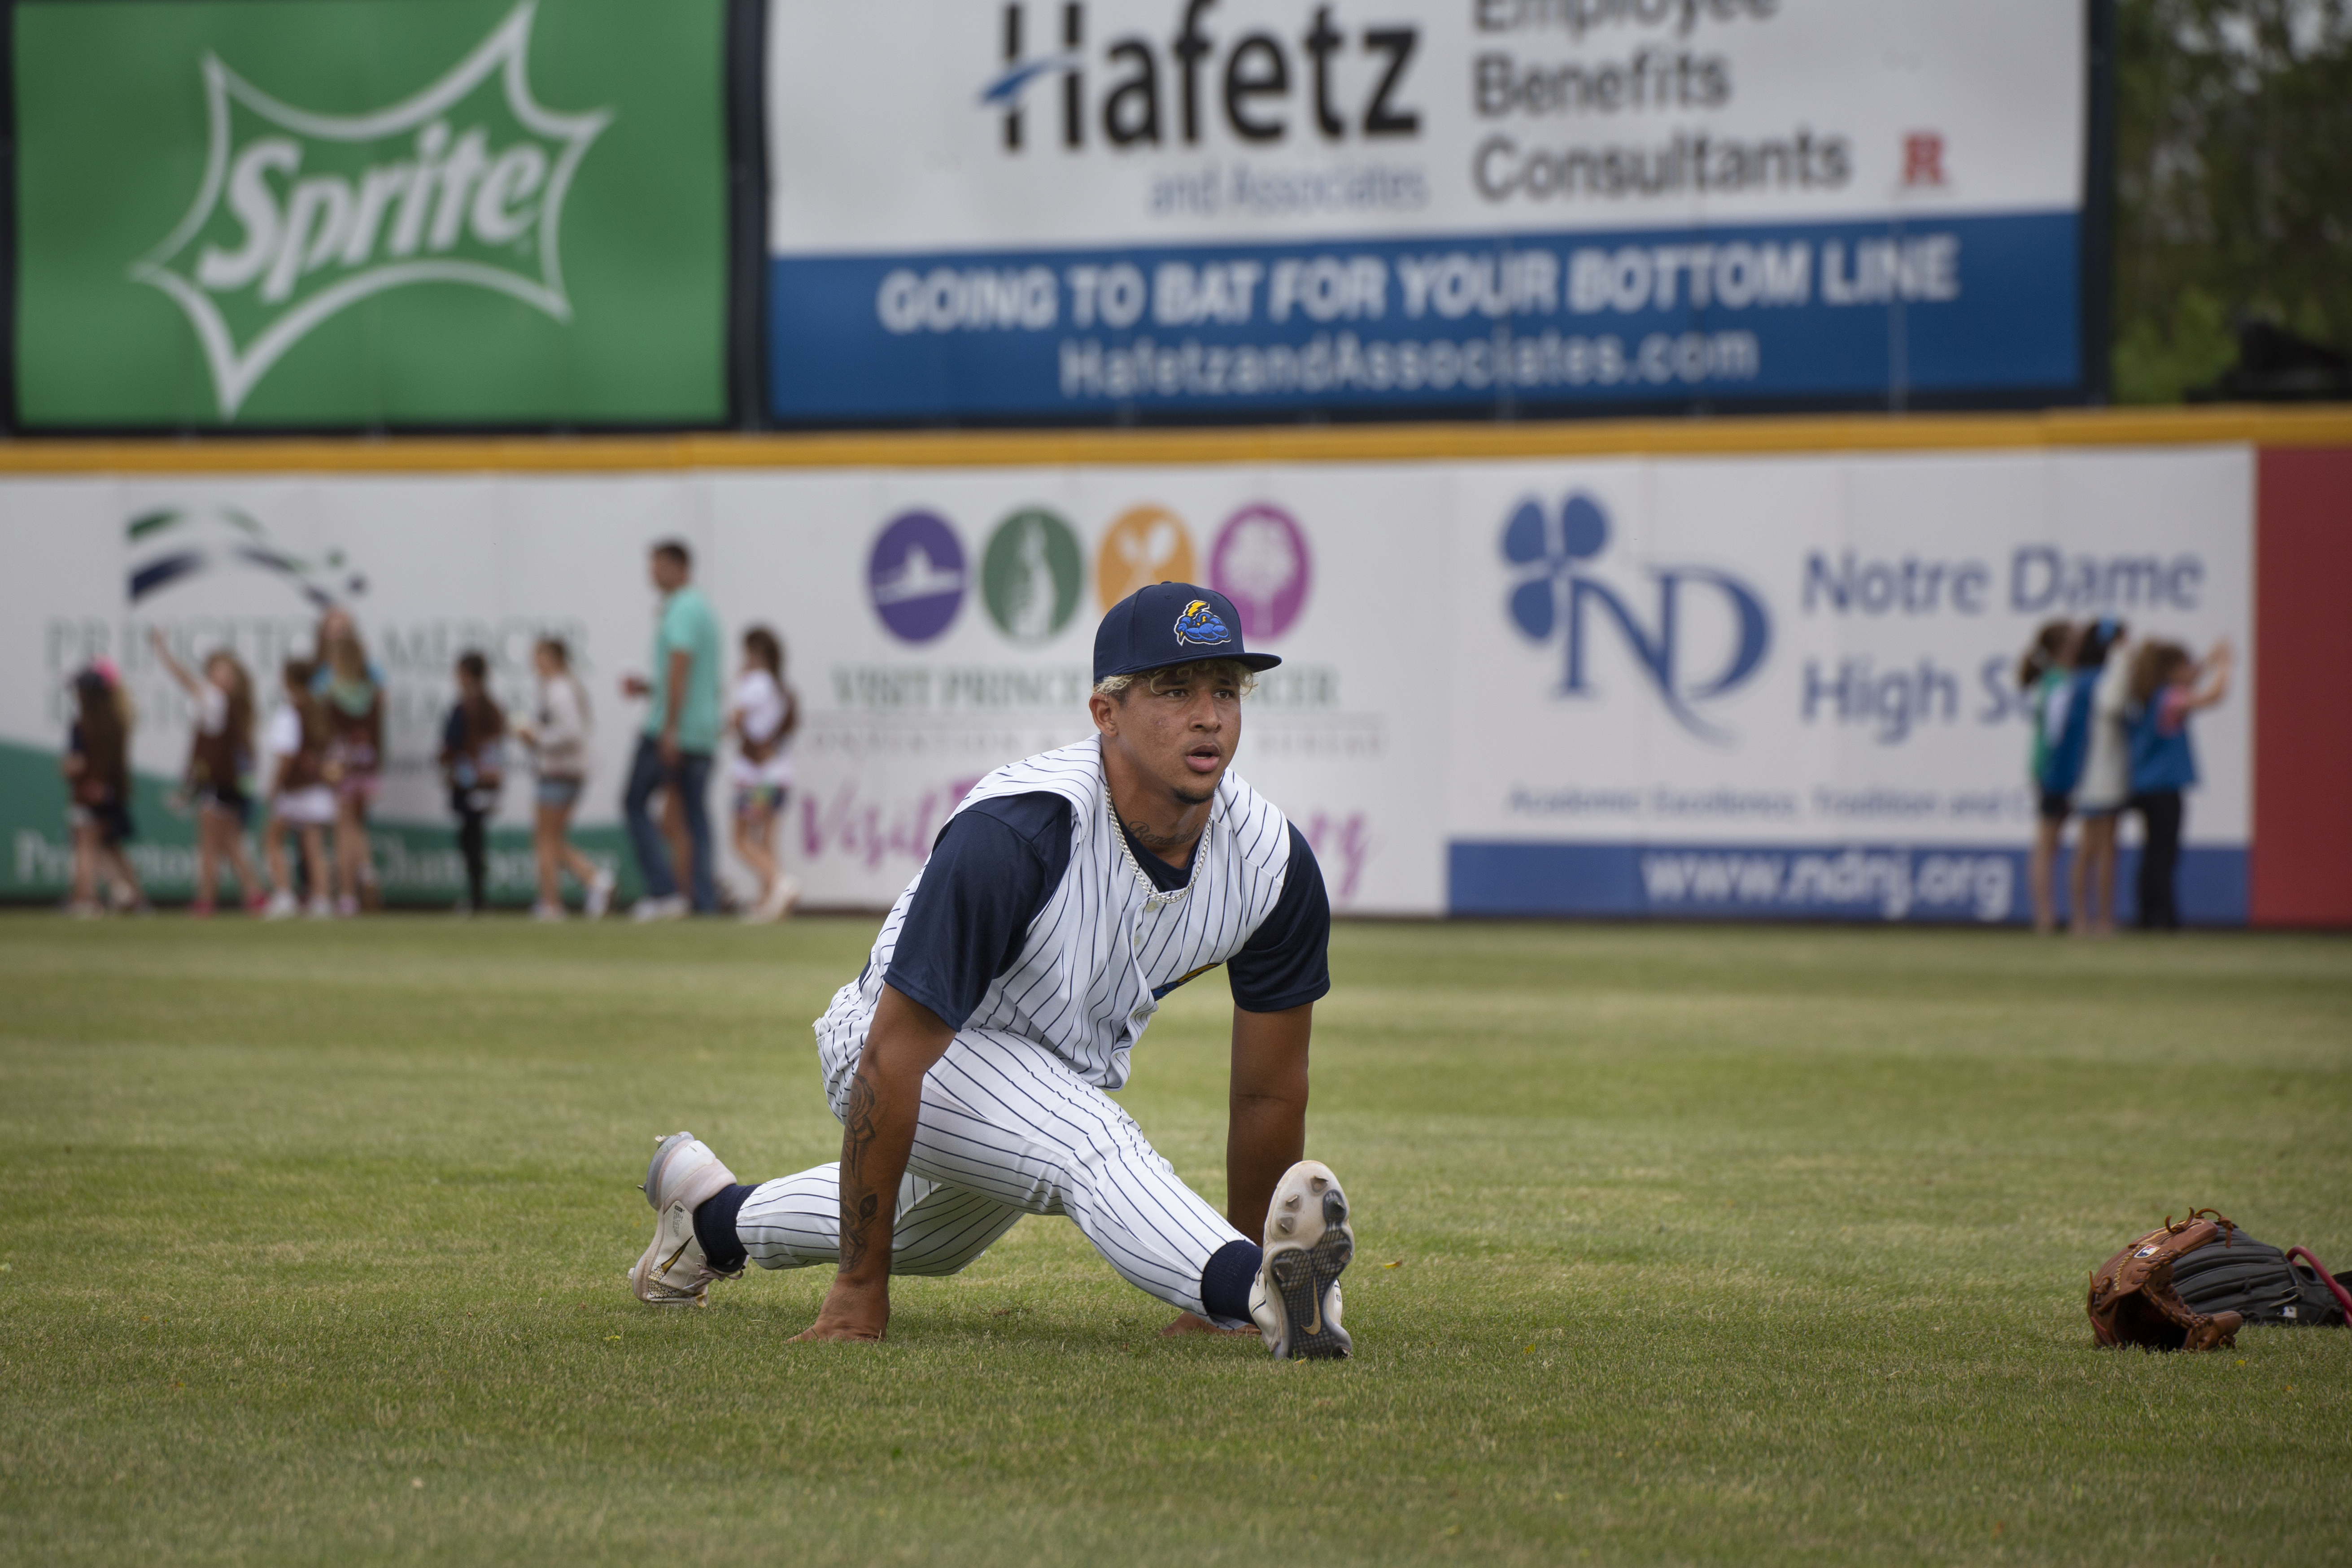
<svg viewBox="0 0 2352 1568"><path fill-rule="evenodd" d="M2333 442L2336 449L2328 449ZM430 769L449 661L506 701L579 651L581 820L619 856L654 538L807 703L788 856L887 903L988 766L1084 733L1091 628L1134 583L1235 597L1284 656L1240 769L1364 914L2016 922L2032 799L2009 668L2053 614L2241 651L2199 717L2185 910L2352 919L2328 642L2352 585L2352 418L2020 416L506 444L14 447L0 473L0 896L64 875L64 682L129 672L141 837L186 703L148 628L256 668L348 602L390 689L390 891L454 896ZM2331 663L2333 661L2333 663ZM2319 750L2312 750L2319 748ZM2310 759L2310 762L2305 762ZM527 790L496 882L524 896ZM2333 835L2333 837L2331 837ZM2126 877L2129 889L2129 877Z"/></svg>

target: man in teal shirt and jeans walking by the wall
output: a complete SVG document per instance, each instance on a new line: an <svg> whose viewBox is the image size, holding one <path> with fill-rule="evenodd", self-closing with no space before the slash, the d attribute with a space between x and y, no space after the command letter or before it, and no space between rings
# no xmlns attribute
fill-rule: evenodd
<svg viewBox="0 0 2352 1568"><path fill-rule="evenodd" d="M677 891L670 849L654 823L656 790L673 790L687 818L694 865L687 889L696 914L715 914L717 886L710 879L710 757L720 750L720 618L710 599L689 581L694 557L675 538L654 545L654 588L661 590L661 621L654 628L654 679L630 675L621 682L628 696L649 698L637 755L628 766L628 795L621 811L628 837L637 846L637 870L644 875L644 898L637 919L677 919L687 896Z"/></svg>

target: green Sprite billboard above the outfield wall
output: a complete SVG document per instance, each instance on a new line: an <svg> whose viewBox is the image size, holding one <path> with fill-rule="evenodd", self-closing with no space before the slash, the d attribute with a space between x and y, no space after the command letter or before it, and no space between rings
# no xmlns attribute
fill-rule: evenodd
<svg viewBox="0 0 2352 1568"><path fill-rule="evenodd" d="M720 0L12 16L21 423L724 416Z"/></svg>

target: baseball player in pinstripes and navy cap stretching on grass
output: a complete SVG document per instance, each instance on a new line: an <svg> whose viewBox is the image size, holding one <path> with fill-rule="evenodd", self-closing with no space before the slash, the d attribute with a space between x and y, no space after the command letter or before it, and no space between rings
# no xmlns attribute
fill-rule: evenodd
<svg viewBox="0 0 2352 1568"><path fill-rule="evenodd" d="M880 1340L891 1274L955 1274L1021 1215L1065 1213L1181 1312L1167 1333L1256 1328L1277 1359L1350 1354L1348 1199L1301 1159L1331 905L1305 837L1230 771L1242 693L1282 663L1247 651L1240 625L1190 583L1103 616L1096 733L971 788L816 1020L842 1159L743 1185L691 1133L663 1138L640 1300L706 1305L746 1262L830 1262L800 1338ZM1108 1093L1160 999L1218 964L1225 1215Z"/></svg>

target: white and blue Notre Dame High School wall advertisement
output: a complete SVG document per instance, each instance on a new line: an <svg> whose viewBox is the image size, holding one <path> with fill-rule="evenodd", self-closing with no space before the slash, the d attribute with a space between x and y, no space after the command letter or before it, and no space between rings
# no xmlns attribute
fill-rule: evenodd
<svg viewBox="0 0 2352 1568"><path fill-rule="evenodd" d="M2237 649L2183 903L2244 922L2244 449L1498 463L1454 503L1454 910L2018 919L2018 656L2117 616Z"/></svg>

